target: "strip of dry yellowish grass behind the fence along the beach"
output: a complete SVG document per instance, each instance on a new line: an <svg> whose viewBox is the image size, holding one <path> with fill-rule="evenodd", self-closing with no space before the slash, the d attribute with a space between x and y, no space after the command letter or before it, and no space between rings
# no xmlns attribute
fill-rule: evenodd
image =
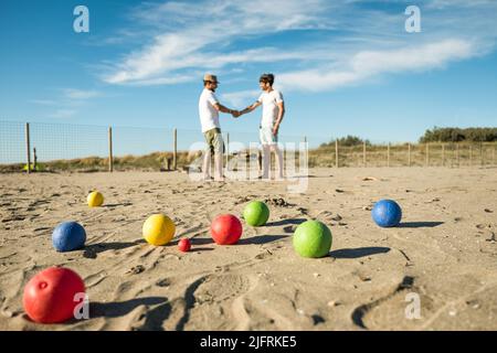
<svg viewBox="0 0 497 353"><path fill-rule="evenodd" d="M390 151L389 151L390 150ZM411 145L373 145L366 148L366 164L362 146L339 147L339 167L465 167L496 165L497 143L425 143ZM190 165L201 152L179 151L178 169ZM123 156L114 158L114 170L158 171L172 169L172 152L154 152L145 156ZM295 156L298 164L298 153ZM198 161L197 161L198 163ZM315 167L335 167L335 147L320 147L309 150L308 163ZM108 170L108 158L86 157L71 160L54 160L38 163L40 171L93 172ZM168 168L169 167L169 168ZM0 172L19 172L25 164L0 165Z"/></svg>

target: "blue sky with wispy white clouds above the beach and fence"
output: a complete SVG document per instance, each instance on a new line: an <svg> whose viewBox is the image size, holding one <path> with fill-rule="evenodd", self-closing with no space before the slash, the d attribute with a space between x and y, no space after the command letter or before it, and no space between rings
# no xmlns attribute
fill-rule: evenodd
<svg viewBox="0 0 497 353"><path fill-rule="evenodd" d="M73 10L89 9L89 33ZM421 33L404 10L421 9ZM496 1L0 2L0 120L200 130L203 73L244 108L273 72L281 133L415 141L497 126ZM261 110L224 130L256 136Z"/></svg>

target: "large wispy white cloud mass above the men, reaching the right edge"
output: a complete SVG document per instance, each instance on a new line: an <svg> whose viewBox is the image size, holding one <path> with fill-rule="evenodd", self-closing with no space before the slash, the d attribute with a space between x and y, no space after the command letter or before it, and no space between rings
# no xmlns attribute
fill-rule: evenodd
<svg viewBox="0 0 497 353"><path fill-rule="evenodd" d="M403 11L371 9L356 0L146 2L133 18L156 35L145 36L145 44L117 60L103 79L172 85L199 79L202 72L235 74L237 66L277 64L276 81L284 87L322 90L387 73L443 67L494 49L497 2L468 3L421 1L423 32L406 34ZM306 41L267 40L289 31L320 34Z"/></svg>

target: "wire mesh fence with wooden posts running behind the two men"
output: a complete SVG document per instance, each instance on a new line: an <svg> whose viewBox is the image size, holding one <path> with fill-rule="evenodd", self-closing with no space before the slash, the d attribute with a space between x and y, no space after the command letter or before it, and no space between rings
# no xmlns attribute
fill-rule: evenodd
<svg viewBox="0 0 497 353"><path fill-rule="evenodd" d="M286 154L296 151L289 156L297 161L305 151L310 168L497 165L497 142L341 146L324 143L322 137L278 138ZM223 140L226 164L260 158L257 131L223 131ZM0 172L200 168L203 149L200 130L0 121Z"/></svg>

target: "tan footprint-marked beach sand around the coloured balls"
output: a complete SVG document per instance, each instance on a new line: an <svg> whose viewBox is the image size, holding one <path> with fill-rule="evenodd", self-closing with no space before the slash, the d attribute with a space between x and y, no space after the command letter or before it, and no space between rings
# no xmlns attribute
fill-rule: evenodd
<svg viewBox="0 0 497 353"><path fill-rule="evenodd" d="M285 182L191 182L181 172L0 175L1 330L496 330L497 169L316 169L309 189ZM105 206L89 208L97 189ZM380 228L372 203L396 200L402 225ZM218 246L210 221L269 199L265 227L244 224ZM175 220L177 237L154 247L148 215ZM331 253L300 258L295 227L326 223ZM80 222L86 248L56 253L52 229ZM180 253L180 237L192 250ZM30 322L27 281L50 266L84 279L91 318ZM405 311L419 298L420 318ZM408 299L408 301L406 301ZM410 307L412 308L412 307ZM410 311L413 312L413 311Z"/></svg>

